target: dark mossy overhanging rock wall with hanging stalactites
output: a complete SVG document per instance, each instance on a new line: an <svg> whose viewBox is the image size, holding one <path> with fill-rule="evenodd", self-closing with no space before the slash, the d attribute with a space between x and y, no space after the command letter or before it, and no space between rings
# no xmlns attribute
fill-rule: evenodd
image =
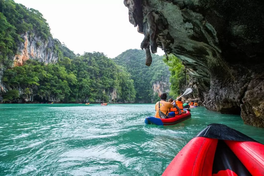
<svg viewBox="0 0 264 176"><path fill-rule="evenodd" d="M125 0L129 20L145 37L183 61L206 108L240 114L264 127L262 0ZM148 62L149 64L150 62ZM254 87L253 87L254 85ZM263 104L263 103L262 103Z"/></svg>

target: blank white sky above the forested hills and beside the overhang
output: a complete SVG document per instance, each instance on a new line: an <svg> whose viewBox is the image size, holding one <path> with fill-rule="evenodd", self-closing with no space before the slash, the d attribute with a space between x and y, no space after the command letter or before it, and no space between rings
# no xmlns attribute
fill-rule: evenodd
<svg viewBox="0 0 264 176"><path fill-rule="evenodd" d="M103 52L114 58L140 49L143 34L128 19L123 0L15 0L43 14L54 38L74 53ZM159 55L163 51L158 49Z"/></svg>

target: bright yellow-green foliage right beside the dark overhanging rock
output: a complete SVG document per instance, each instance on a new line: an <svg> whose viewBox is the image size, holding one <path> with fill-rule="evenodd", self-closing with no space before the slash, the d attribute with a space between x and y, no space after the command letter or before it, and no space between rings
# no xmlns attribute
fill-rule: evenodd
<svg viewBox="0 0 264 176"><path fill-rule="evenodd" d="M171 71L171 77L169 78L171 83L170 96L176 98L180 95L181 87L186 84L187 76L180 59L173 54L170 54L168 59L163 58L163 61L169 66L169 70Z"/></svg>

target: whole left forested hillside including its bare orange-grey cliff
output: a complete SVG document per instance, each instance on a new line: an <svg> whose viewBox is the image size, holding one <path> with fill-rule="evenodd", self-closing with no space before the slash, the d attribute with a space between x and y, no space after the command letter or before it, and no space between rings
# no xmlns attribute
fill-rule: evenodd
<svg viewBox="0 0 264 176"><path fill-rule="evenodd" d="M0 102L134 102L130 77L103 53L75 55L39 11L0 0Z"/></svg>

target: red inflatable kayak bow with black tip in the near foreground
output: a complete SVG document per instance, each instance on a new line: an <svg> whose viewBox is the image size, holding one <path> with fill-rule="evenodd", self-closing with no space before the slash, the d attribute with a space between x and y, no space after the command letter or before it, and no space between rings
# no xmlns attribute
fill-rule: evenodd
<svg viewBox="0 0 264 176"><path fill-rule="evenodd" d="M228 126L211 124L182 148L162 175L264 175L264 145Z"/></svg>

